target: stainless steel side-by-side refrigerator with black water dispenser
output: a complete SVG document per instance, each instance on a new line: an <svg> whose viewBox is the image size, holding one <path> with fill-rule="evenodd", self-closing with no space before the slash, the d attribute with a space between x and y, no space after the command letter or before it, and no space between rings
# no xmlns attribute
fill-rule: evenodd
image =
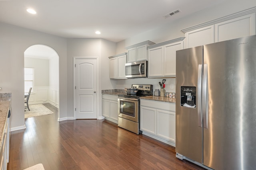
<svg viewBox="0 0 256 170"><path fill-rule="evenodd" d="M176 51L176 157L256 169L256 35Z"/></svg>

